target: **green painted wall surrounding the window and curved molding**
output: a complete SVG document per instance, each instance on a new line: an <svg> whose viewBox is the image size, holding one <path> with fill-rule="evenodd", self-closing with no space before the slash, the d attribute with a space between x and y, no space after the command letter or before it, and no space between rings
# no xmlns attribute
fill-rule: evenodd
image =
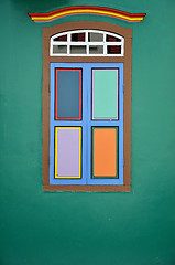
<svg viewBox="0 0 175 265"><path fill-rule="evenodd" d="M133 29L132 192L42 190L42 26L28 12L146 12ZM0 265L175 264L175 1L0 1ZM74 17L57 20L98 20Z"/></svg>

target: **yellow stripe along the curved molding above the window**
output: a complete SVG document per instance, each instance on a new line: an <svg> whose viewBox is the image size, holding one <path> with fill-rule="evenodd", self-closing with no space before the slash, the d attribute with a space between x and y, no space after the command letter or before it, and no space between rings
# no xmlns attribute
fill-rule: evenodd
<svg viewBox="0 0 175 265"><path fill-rule="evenodd" d="M73 10L73 11L65 11L62 12L59 14L53 14L50 15L47 18L39 18L39 17L33 17L32 20L37 20L37 21L46 21L46 20L53 20L53 19L57 19L61 15L66 15L66 14L73 14L73 13L97 13L97 14L107 14L107 15L113 15L117 18L121 18L121 19L127 19L129 21L141 21L143 20L143 18L129 18L128 15L122 15L122 14L116 14L113 12L107 12L107 11L96 11L96 10Z"/></svg>

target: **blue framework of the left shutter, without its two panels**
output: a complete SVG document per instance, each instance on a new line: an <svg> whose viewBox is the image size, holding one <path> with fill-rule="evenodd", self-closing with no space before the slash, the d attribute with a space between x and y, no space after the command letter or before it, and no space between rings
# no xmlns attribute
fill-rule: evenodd
<svg viewBox="0 0 175 265"><path fill-rule="evenodd" d="M50 64L50 184L85 184L86 179L85 179L85 173L84 173L84 162L85 162L85 157L86 157L86 148L85 148L85 113L84 113L84 107L85 107L85 92L84 92L84 86L85 86L85 78L83 78L83 120L55 120L54 117L54 110L55 110L55 67L73 67L73 68L83 68L81 63L77 64L70 64L70 63L51 63ZM84 75L84 70L83 70L83 75ZM75 126L80 126L83 129L83 135L81 135L81 179L55 179L54 178L54 163L55 163L55 127L59 126L69 126L69 127L75 127Z"/></svg>

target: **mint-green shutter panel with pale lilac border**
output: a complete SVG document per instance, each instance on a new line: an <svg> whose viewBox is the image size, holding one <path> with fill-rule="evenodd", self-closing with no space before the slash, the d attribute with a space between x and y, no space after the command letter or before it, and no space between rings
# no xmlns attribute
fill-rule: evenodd
<svg viewBox="0 0 175 265"><path fill-rule="evenodd" d="M118 119L118 70L92 70L92 119Z"/></svg>

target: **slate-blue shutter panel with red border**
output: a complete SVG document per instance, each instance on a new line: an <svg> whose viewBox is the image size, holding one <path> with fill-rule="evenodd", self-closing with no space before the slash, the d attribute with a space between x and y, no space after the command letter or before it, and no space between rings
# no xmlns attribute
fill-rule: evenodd
<svg viewBox="0 0 175 265"><path fill-rule="evenodd" d="M56 68L55 92L55 119L81 119L81 70Z"/></svg>

